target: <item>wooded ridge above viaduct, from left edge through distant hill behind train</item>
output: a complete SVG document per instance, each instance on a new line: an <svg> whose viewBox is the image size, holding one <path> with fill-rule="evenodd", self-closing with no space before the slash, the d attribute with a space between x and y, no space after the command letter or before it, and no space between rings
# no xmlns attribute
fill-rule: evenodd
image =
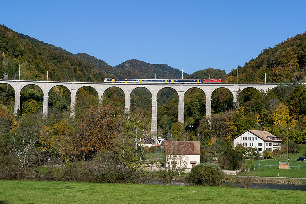
<svg viewBox="0 0 306 204"><path fill-rule="evenodd" d="M101 81L103 78L181 78L181 71L165 64L149 64L140 60L127 60L117 66L86 53L72 54L61 47L45 43L31 36L15 32L0 24L0 75L18 79L19 64L23 80ZM184 76L187 76L184 73Z"/></svg>

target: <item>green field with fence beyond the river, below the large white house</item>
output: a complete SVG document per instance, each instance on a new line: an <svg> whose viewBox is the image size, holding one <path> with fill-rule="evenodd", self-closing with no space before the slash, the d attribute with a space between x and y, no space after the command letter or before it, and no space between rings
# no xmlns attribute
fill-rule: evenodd
<svg viewBox="0 0 306 204"><path fill-rule="evenodd" d="M300 145L300 153L289 153L290 169L278 169L278 162L287 162L287 154L285 154L280 158L260 160L260 168L258 168L258 160L252 160L253 166L256 165L255 170L253 167L252 172L254 172L256 176L306 178L306 161L296 161L297 158L302 157L305 151L306 146ZM244 161L247 164L249 160L245 159ZM271 167L269 165L271 165Z"/></svg>

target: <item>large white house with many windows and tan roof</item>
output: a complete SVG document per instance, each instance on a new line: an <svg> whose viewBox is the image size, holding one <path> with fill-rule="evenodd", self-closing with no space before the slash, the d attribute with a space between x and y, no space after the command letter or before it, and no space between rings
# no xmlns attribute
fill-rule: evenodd
<svg viewBox="0 0 306 204"><path fill-rule="evenodd" d="M245 147L258 148L258 130L246 130L233 139L234 148L241 144ZM273 151L281 148L283 141L268 131L259 131L259 152L262 153L265 150Z"/></svg>

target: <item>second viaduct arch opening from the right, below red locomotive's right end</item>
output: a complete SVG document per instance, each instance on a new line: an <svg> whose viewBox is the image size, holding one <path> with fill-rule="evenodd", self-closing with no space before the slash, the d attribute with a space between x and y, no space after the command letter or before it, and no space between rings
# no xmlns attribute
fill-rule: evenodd
<svg viewBox="0 0 306 204"><path fill-rule="evenodd" d="M223 90L223 91L222 91ZM218 94L218 99L216 98ZM234 94L227 87L218 87L211 93L211 109L213 113L224 112L234 106Z"/></svg>

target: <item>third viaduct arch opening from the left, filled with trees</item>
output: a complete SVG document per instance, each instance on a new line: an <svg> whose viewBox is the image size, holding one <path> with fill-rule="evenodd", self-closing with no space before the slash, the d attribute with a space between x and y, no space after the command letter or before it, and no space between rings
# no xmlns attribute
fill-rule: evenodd
<svg viewBox="0 0 306 204"><path fill-rule="evenodd" d="M55 89L55 90L54 90ZM51 95L50 95L51 94ZM48 91L48 109L55 107L60 110L69 110L71 107L71 91L65 85L54 85Z"/></svg>

